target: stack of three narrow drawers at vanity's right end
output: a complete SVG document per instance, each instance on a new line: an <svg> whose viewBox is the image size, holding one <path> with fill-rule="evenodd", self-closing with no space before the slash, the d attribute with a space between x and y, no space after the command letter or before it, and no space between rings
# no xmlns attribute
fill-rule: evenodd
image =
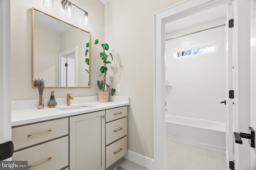
<svg viewBox="0 0 256 170"><path fill-rule="evenodd" d="M127 106L106 110L106 168L127 154Z"/></svg>

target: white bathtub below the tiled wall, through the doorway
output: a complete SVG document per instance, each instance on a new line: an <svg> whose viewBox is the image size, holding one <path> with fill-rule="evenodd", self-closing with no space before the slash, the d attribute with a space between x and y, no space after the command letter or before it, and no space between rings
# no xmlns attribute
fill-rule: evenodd
<svg viewBox="0 0 256 170"><path fill-rule="evenodd" d="M222 122L166 115L166 137L226 151L226 125Z"/></svg>

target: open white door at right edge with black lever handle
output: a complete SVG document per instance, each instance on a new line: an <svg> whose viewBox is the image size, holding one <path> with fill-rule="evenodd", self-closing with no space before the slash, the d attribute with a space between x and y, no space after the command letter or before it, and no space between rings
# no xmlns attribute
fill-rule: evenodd
<svg viewBox="0 0 256 170"><path fill-rule="evenodd" d="M256 63L255 63L255 0L235 0L235 114L234 132L249 133L256 130ZM235 169L256 170L256 150L248 139L242 145L235 143Z"/></svg>

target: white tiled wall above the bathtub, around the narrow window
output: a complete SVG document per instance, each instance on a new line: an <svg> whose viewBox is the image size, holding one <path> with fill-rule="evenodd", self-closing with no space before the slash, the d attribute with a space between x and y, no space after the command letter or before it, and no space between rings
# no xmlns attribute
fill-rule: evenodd
<svg viewBox="0 0 256 170"><path fill-rule="evenodd" d="M175 49L215 42L214 53L174 58ZM166 80L166 114L225 122L225 26L166 41Z"/></svg>

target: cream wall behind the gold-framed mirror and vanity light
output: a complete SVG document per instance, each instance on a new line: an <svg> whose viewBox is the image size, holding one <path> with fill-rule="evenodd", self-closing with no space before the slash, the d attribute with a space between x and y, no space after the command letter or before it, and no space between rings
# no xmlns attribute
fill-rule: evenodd
<svg viewBox="0 0 256 170"><path fill-rule="evenodd" d="M32 88L32 7L91 32L92 42L95 39L104 41L104 4L99 0L73 0L72 2L88 10L90 26L82 25L84 12L77 8L74 10L73 19L66 18L60 0L54 0L52 9L45 8L42 0L10 0L12 100L38 98L38 89ZM67 93L72 93L73 96L97 95L96 81L101 65L98 57L100 51L99 46L92 45L91 88L45 88L44 98L50 98L52 90L55 91L56 98L65 97Z"/></svg>

